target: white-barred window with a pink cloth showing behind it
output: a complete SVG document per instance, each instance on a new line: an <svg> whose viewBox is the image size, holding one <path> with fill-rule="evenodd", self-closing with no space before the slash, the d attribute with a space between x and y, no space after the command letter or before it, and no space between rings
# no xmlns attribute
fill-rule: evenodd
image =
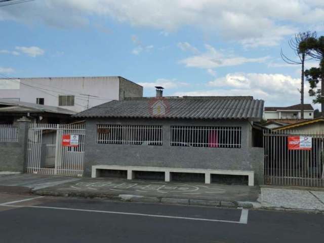
<svg viewBox="0 0 324 243"><path fill-rule="evenodd" d="M241 127L171 126L171 146L240 148Z"/></svg>

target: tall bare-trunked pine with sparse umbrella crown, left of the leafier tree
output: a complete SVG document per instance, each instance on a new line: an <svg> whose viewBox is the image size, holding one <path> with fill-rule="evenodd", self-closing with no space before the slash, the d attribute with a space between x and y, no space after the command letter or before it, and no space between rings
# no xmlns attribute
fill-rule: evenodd
<svg viewBox="0 0 324 243"><path fill-rule="evenodd" d="M280 55L282 60L289 64L302 65L301 70L301 89L300 92L300 103L301 103L301 118L304 118L304 65L305 61L311 59L310 48L308 47L308 39L316 38L316 32L299 32L294 38L291 38L288 42L289 47L294 51L295 55L299 58L298 61L288 58L281 49ZM307 58L309 56L309 58Z"/></svg>

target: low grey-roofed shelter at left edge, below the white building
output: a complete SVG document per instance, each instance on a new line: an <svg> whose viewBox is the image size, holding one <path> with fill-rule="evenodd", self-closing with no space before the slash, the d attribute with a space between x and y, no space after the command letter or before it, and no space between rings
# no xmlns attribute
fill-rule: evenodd
<svg viewBox="0 0 324 243"><path fill-rule="evenodd" d="M71 117L75 113L55 106L0 99L0 125L16 124L16 121L23 116L28 117L32 123L65 124L75 120Z"/></svg>

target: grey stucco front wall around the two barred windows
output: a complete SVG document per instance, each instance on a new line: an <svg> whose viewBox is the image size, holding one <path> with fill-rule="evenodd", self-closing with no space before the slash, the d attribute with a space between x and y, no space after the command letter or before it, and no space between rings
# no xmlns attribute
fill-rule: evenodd
<svg viewBox="0 0 324 243"><path fill-rule="evenodd" d="M98 124L161 125L163 146L98 144ZM241 148L176 147L170 145L170 126L239 126ZM249 121L197 121L169 119L88 119L85 139L85 175L93 165L153 166L194 169L247 170L263 184L263 148L251 147Z"/></svg>

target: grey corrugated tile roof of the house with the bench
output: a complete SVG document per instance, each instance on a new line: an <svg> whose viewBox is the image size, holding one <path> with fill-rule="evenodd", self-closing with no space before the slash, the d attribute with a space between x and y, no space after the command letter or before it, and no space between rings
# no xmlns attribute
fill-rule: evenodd
<svg viewBox="0 0 324 243"><path fill-rule="evenodd" d="M154 115L155 102L163 102L164 115ZM74 117L193 118L260 120L263 100L251 96L131 98L110 101L73 115Z"/></svg>

